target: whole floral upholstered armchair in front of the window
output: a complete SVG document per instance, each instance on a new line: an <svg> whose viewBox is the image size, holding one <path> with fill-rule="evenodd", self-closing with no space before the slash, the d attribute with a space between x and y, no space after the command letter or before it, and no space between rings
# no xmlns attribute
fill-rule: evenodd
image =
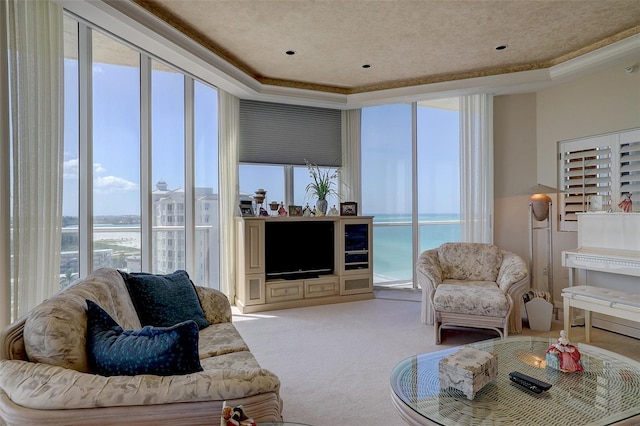
<svg viewBox="0 0 640 426"><path fill-rule="evenodd" d="M522 295L529 289L524 260L493 244L444 243L417 262L422 322L443 327L489 328L501 337L522 331Z"/></svg>

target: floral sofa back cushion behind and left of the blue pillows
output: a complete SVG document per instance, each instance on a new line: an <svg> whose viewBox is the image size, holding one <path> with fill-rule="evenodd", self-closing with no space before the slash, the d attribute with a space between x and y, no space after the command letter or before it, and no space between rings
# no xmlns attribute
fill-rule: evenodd
<svg viewBox="0 0 640 426"><path fill-rule="evenodd" d="M86 299L99 303L122 327L142 327L118 271L98 269L31 310L24 326L31 361L89 372Z"/></svg>

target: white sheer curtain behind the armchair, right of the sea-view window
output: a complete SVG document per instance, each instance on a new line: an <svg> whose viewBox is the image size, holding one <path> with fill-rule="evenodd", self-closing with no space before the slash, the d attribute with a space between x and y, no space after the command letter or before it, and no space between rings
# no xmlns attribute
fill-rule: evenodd
<svg viewBox="0 0 640 426"><path fill-rule="evenodd" d="M493 95L460 97L460 238L493 242Z"/></svg>

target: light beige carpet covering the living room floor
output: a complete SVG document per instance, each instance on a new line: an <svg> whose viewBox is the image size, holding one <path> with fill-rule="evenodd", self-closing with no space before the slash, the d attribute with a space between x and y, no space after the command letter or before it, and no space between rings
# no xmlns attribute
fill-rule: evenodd
<svg viewBox="0 0 640 426"><path fill-rule="evenodd" d="M387 292L362 302L256 314L234 323L258 362L282 382L284 418L313 426L401 426L391 404L393 367L412 355L497 337L491 331L447 330L434 344L433 328L420 323L420 303ZM385 297L385 298L381 298ZM410 299L410 298L409 298ZM555 337L562 328L524 335ZM584 341L582 328L572 338ZM640 340L602 330L592 345L640 359Z"/></svg>

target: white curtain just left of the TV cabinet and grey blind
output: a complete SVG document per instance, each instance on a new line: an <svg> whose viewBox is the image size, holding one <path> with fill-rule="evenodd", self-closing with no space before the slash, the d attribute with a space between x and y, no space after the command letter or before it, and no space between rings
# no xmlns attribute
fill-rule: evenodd
<svg viewBox="0 0 640 426"><path fill-rule="evenodd" d="M234 217L237 216L240 185L238 159L240 101L218 89L218 156L220 194L220 291L234 303L236 293Z"/></svg>

